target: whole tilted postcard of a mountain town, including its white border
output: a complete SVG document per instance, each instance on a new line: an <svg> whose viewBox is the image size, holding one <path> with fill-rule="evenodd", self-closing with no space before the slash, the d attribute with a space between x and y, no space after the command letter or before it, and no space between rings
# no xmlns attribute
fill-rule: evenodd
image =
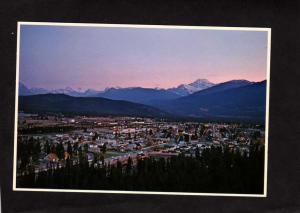
<svg viewBox="0 0 300 213"><path fill-rule="evenodd" d="M14 191L267 196L271 28L18 22Z"/></svg>

